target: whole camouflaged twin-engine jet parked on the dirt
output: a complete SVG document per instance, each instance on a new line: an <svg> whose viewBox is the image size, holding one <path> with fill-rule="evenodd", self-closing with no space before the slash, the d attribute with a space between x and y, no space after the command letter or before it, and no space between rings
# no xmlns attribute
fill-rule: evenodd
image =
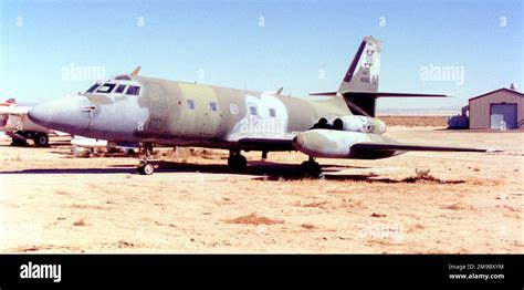
<svg viewBox="0 0 524 290"><path fill-rule="evenodd" d="M488 152L479 148L421 146L384 136L386 124L375 118L377 97L444 96L380 93L380 42L364 38L337 92L304 100L276 92L251 92L139 76L117 75L75 97L33 107L35 123L92 138L114 142L224 148L228 165L247 166L242 151L300 151L302 164L321 173L315 157L377 159L407 151ZM318 97L318 96L317 96ZM145 151L147 152L147 149ZM153 174L147 154L138 166Z"/></svg>

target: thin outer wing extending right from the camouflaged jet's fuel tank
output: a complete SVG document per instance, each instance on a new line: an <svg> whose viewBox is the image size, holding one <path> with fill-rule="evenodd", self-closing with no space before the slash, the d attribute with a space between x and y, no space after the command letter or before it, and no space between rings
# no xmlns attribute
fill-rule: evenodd
<svg viewBox="0 0 524 290"><path fill-rule="evenodd" d="M446 147L446 146L425 146L410 145L402 143L374 143L361 142L352 145L352 151L379 151L379 152L407 152L407 151L427 151L427 152L502 152L494 148L465 148L465 147Z"/></svg>

